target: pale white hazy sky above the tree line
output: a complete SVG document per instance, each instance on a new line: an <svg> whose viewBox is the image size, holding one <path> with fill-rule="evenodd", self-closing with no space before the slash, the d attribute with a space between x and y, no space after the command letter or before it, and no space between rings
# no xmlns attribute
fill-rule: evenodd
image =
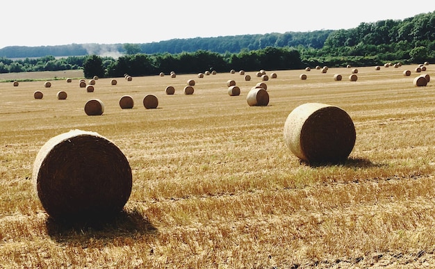
<svg viewBox="0 0 435 269"><path fill-rule="evenodd" d="M347 29L433 12L435 0L2 0L0 8L3 48Z"/></svg>

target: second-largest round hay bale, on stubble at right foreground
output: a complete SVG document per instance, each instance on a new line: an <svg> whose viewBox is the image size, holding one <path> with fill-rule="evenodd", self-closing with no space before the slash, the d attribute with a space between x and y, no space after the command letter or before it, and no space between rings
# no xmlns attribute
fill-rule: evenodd
<svg viewBox="0 0 435 269"><path fill-rule="evenodd" d="M345 161L355 145L350 116L337 106L306 103L297 106L284 124L284 140L295 156L308 163Z"/></svg>

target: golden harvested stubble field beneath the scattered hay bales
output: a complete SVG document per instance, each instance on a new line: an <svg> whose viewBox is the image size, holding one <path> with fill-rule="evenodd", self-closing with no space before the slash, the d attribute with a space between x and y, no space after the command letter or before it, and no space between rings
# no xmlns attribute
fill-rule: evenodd
<svg viewBox="0 0 435 269"><path fill-rule="evenodd" d="M247 105L261 81L254 72L252 81L206 76L195 95L165 94L192 74L135 77L115 88L99 79L92 93L78 79L48 77L52 86L39 100L38 81L0 83L0 267L434 267L435 91L432 83L414 87L406 69L359 67L356 82L277 71L268 106ZM240 96L227 94L229 79ZM68 99L59 102L59 90ZM148 94L158 109L119 106L123 95ZM104 115L85 115L90 95L104 102ZM348 161L309 166L286 148L286 117L306 102L352 117ZM40 147L70 129L100 133L130 161L133 190L115 220L54 222L33 192Z"/></svg>

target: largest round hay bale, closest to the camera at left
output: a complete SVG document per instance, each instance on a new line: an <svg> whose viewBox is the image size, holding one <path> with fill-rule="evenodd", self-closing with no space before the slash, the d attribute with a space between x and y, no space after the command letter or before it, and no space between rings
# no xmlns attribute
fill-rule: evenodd
<svg viewBox="0 0 435 269"><path fill-rule="evenodd" d="M129 161L110 140L74 130L48 140L33 163L33 186L55 220L105 220L122 211L131 194Z"/></svg>

